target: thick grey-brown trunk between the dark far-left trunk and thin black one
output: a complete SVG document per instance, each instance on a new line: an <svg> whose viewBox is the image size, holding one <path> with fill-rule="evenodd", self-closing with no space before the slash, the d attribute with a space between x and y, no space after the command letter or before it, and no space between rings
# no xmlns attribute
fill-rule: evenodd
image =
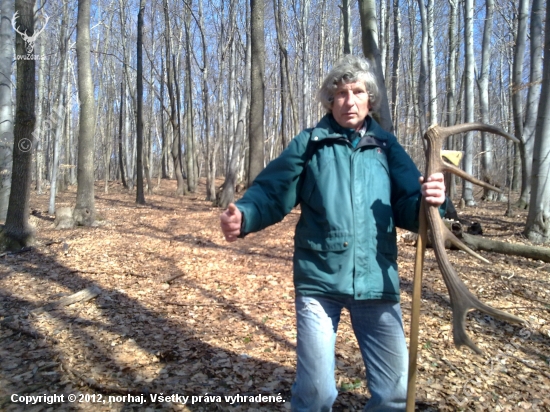
<svg viewBox="0 0 550 412"><path fill-rule="evenodd" d="M78 0L76 57L78 60L78 98L81 106L74 218L75 223L84 226L91 226L95 223L94 140L96 111L90 54L90 0Z"/></svg>

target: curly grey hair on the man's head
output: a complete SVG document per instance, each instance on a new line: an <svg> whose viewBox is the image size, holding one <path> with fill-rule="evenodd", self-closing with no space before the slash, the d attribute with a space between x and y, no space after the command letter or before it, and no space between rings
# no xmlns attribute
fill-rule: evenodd
<svg viewBox="0 0 550 412"><path fill-rule="evenodd" d="M359 56L347 54L332 67L323 80L323 84L317 94L319 101L327 111L332 113L334 91L340 84L362 81L369 94L371 112L378 111L380 107L380 92L376 80L376 68L371 60Z"/></svg>

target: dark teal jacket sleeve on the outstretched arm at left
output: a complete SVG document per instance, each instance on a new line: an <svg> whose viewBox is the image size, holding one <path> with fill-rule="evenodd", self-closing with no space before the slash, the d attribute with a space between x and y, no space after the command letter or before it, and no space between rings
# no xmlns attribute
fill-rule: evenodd
<svg viewBox="0 0 550 412"><path fill-rule="evenodd" d="M296 136L235 203L244 215L240 237L280 222L294 208L299 196L298 181L307 160L309 136L309 130Z"/></svg>

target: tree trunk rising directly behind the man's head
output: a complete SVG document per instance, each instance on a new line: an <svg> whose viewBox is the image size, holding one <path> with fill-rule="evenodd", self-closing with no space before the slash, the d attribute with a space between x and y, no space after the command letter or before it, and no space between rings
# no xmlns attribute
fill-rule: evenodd
<svg viewBox="0 0 550 412"><path fill-rule="evenodd" d="M359 15L361 17L361 39L363 41L363 54L376 65L376 76L380 89L380 125L387 131L393 131L388 93L382 74L382 60L378 49L378 27L376 20L376 2L374 0L359 0Z"/></svg>

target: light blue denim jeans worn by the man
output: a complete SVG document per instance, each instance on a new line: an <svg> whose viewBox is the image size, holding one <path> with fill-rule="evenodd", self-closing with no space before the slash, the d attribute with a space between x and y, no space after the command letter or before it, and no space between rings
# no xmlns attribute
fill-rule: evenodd
<svg viewBox="0 0 550 412"><path fill-rule="evenodd" d="M292 410L330 411L338 395L334 345L342 308L347 308L367 370L371 398L365 411L404 411L408 352L401 307L387 300L296 297L298 329Z"/></svg>

